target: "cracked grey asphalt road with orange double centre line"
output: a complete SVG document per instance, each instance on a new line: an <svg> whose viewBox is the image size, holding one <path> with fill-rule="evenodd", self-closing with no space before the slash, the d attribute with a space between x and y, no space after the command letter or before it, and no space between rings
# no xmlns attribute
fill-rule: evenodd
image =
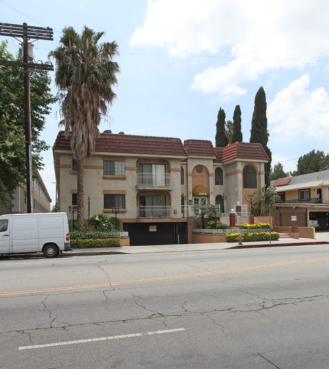
<svg viewBox="0 0 329 369"><path fill-rule="evenodd" d="M327 368L329 247L0 260L1 368Z"/></svg>

